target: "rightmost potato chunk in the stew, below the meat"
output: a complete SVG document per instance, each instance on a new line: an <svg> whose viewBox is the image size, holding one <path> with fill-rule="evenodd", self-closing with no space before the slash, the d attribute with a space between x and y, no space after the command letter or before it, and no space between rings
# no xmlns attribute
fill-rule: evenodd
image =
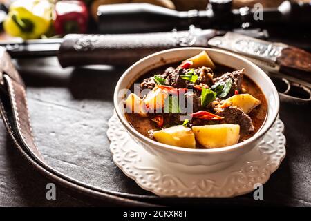
<svg viewBox="0 0 311 221"><path fill-rule="evenodd" d="M234 95L226 99L225 102L228 102L232 106L237 106L246 114L251 112L254 108L256 108L256 106L261 104L260 100L249 94Z"/></svg>

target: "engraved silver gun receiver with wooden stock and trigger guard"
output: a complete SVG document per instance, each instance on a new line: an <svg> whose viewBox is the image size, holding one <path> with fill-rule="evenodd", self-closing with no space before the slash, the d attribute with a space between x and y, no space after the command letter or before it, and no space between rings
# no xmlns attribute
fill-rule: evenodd
<svg viewBox="0 0 311 221"><path fill-rule="evenodd" d="M279 90L281 98L285 97L296 103L310 103L310 53L286 44L263 41L233 32L211 38L208 44L237 53L254 62L265 70L278 90L284 88L284 85L279 87L278 82L285 84L286 89ZM300 71L303 73L299 75ZM293 90L296 93L292 93Z"/></svg>

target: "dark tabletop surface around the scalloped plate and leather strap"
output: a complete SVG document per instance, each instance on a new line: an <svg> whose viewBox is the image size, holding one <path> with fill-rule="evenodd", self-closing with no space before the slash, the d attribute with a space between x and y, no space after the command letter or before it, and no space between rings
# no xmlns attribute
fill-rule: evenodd
<svg viewBox="0 0 311 221"><path fill-rule="evenodd" d="M113 113L113 89L124 68L62 69L55 57L15 64L28 86L32 127L48 164L100 189L155 198L117 169L109 153L107 120ZM310 111L310 106L281 104L288 155L264 186L267 203L311 206ZM57 200L46 200L48 182L23 160L1 123L0 206L105 205L85 200L84 195L73 197L60 186ZM252 200L252 195L241 197L241 202L245 198Z"/></svg>

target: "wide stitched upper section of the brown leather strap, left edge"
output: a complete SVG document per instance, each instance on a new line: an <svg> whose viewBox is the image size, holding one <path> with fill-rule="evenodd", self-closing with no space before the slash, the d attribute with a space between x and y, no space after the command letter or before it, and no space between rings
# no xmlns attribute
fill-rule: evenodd
<svg viewBox="0 0 311 221"><path fill-rule="evenodd" d="M8 133L32 157L43 161L32 135L23 80L14 68L10 55L3 48L0 55L0 84L0 110Z"/></svg>

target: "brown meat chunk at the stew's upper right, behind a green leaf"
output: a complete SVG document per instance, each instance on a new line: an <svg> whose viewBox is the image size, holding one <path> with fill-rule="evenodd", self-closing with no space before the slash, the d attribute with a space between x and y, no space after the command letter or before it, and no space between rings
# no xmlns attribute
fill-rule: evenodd
<svg viewBox="0 0 311 221"><path fill-rule="evenodd" d="M234 95L234 91L238 90L238 93L241 93L241 88L242 88L242 81L243 81L243 75L244 75L244 71L245 69L241 69L241 70L235 70L232 73L225 73L223 75L221 75L220 77L216 77L214 78L214 83L217 82L225 82L227 81L227 79L231 78L232 79L232 86L231 89L227 95L227 97L231 97Z"/></svg>

